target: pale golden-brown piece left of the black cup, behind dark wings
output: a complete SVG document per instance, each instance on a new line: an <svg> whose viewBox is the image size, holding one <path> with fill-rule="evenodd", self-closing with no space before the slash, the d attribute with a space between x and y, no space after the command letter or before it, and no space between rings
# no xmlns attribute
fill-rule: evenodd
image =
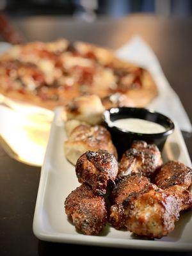
<svg viewBox="0 0 192 256"><path fill-rule="evenodd" d="M117 158L116 148L111 140L111 134L101 125L78 125L73 129L64 143L65 156L72 164L88 150L108 150Z"/></svg>

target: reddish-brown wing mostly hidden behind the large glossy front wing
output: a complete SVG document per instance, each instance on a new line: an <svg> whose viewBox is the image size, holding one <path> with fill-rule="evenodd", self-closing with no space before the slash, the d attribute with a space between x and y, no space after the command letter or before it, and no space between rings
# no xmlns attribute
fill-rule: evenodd
<svg viewBox="0 0 192 256"><path fill-rule="evenodd" d="M144 189L148 184L150 184L147 177L140 175L128 175L120 180L116 187L113 189L110 195L111 209L109 222L117 229L124 228L124 207L122 203L125 198L132 193L136 193Z"/></svg>

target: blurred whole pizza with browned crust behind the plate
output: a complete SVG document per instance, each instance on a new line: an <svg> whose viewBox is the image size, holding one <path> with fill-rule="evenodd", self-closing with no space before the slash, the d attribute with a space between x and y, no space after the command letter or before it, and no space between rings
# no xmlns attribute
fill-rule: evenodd
<svg viewBox="0 0 192 256"><path fill-rule="evenodd" d="M113 99L118 106L127 101L139 107L156 97L157 87L147 70L119 60L108 49L61 39L15 45L5 52L0 93L48 109L93 94L108 107L114 106Z"/></svg>

